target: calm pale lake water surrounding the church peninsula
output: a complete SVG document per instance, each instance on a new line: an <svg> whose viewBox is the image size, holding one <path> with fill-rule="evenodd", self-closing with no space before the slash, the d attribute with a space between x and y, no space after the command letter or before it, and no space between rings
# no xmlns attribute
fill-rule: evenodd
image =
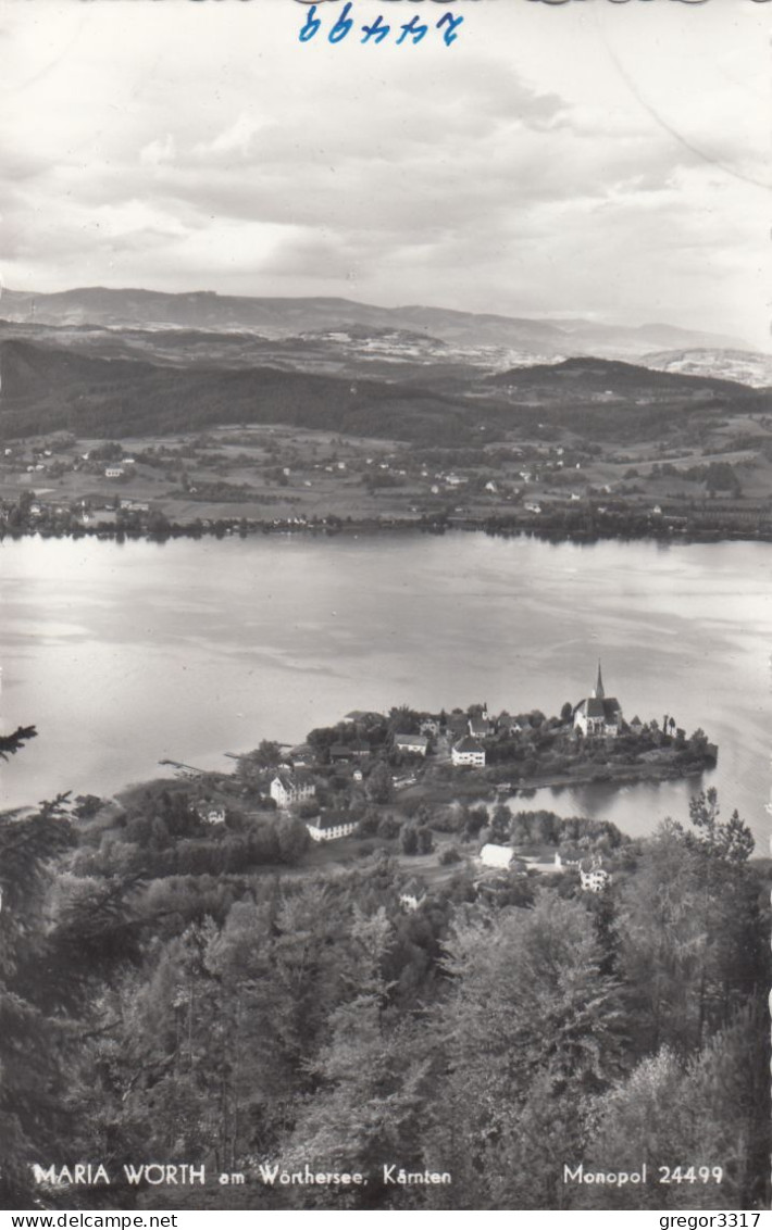
<svg viewBox="0 0 772 1230"><path fill-rule="evenodd" d="M772 545L550 545L481 534L0 545L4 807L108 793L158 761L299 740L350 708L486 700L552 715L592 686L720 745L719 790L766 852ZM539 791L526 807L650 831L685 782Z"/></svg>

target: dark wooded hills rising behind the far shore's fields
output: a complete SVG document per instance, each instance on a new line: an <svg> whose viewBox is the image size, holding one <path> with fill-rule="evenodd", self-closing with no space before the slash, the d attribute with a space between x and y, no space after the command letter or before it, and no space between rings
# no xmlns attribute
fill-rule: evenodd
<svg viewBox="0 0 772 1230"><path fill-rule="evenodd" d="M605 359L476 374L456 387L352 380L267 364L174 365L105 358L49 343L0 342L0 434L66 429L124 438L215 424L282 423L348 435L460 444L555 427L596 439L682 430L683 416L768 410L768 392Z"/></svg>

